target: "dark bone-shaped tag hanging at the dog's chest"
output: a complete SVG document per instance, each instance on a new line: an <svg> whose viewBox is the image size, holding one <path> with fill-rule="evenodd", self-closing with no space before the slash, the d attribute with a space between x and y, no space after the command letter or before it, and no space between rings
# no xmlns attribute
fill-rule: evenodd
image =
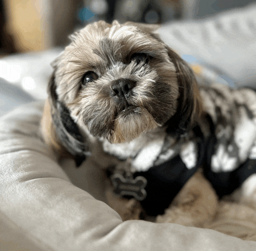
<svg viewBox="0 0 256 251"><path fill-rule="evenodd" d="M147 179L142 176L137 176L135 179L123 177L120 173L115 173L111 176L114 186L114 192L118 195L133 196L136 200L143 200L147 196L144 187L147 185Z"/></svg>

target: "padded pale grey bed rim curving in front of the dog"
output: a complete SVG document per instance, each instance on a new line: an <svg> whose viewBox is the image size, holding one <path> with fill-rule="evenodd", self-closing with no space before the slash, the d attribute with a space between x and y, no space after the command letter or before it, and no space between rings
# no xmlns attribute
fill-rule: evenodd
<svg viewBox="0 0 256 251"><path fill-rule="evenodd" d="M89 162L88 169L74 172L70 164L66 165L65 173L57 163L40 137L41 116L42 103L29 104L0 122L2 250L256 250L255 233L250 236L252 241L248 241L211 229L122 222L108 205L71 183L70 180L78 186L84 185L95 197L101 195L97 167L95 175ZM253 217L255 212L251 214ZM220 220L216 228L229 227L232 232L237 226L236 231L245 230L237 221L232 225ZM245 219L245 222L255 229L253 221Z"/></svg>

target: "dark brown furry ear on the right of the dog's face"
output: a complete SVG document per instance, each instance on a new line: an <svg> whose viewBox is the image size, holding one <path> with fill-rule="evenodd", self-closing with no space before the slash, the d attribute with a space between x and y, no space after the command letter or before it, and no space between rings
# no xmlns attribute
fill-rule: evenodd
<svg viewBox="0 0 256 251"><path fill-rule="evenodd" d="M192 69L169 47L167 50L176 68L179 86L178 108L174 116L167 121L167 132L182 135L198 121L202 112L202 101Z"/></svg>

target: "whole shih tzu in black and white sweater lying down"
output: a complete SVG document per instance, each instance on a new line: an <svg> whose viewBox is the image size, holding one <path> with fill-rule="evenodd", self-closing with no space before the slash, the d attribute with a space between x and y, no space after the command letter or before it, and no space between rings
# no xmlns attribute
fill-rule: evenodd
<svg viewBox="0 0 256 251"><path fill-rule="evenodd" d="M236 142L242 119L254 123L248 96L255 94L198 90L193 71L157 28L100 21L72 35L52 64L43 135L60 158L70 155L79 166L90 156L107 170L109 204L123 219L143 211L159 215L157 222L200 225L214 215L217 196L255 173L240 171L253 161L256 127L245 153Z"/></svg>

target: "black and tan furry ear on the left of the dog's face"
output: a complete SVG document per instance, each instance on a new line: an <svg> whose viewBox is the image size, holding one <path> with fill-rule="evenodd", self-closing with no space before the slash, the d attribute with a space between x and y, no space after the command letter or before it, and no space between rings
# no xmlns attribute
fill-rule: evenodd
<svg viewBox="0 0 256 251"><path fill-rule="evenodd" d="M48 99L42 119L44 139L58 152L62 153L64 147L68 153L75 156L79 166L85 156L89 155L89 148L68 109L58 100L54 72L48 84Z"/></svg>

